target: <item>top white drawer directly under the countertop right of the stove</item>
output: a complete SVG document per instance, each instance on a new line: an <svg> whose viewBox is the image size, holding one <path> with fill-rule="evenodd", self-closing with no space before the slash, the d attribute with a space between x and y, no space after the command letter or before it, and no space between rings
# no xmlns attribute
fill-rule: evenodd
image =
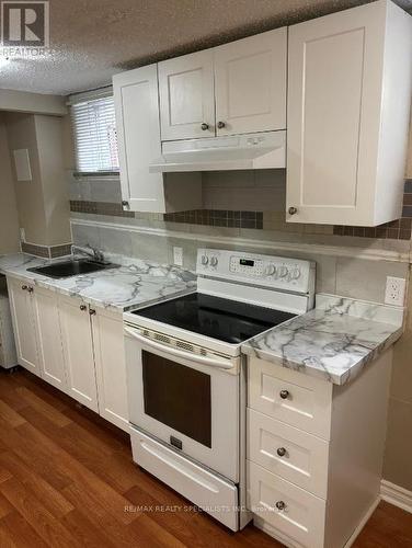
<svg viewBox="0 0 412 548"><path fill-rule="evenodd" d="M332 383L255 357L248 362L248 406L330 439Z"/></svg>

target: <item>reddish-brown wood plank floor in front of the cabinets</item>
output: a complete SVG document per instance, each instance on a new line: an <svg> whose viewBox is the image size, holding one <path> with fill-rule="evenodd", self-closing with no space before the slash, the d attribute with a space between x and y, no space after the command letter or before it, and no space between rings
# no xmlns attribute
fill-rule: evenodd
<svg viewBox="0 0 412 548"><path fill-rule="evenodd" d="M272 547L231 534L137 468L127 435L21 370L0 374L0 547ZM412 515L381 503L354 545L412 547Z"/></svg>

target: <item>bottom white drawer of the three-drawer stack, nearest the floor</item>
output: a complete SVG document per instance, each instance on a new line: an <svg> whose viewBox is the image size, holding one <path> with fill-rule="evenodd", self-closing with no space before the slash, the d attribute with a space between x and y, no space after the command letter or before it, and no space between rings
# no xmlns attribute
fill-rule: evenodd
<svg viewBox="0 0 412 548"><path fill-rule="evenodd" d="M277 503L283 503L284 510L278 510ZM248 507L294 544L323 547L325 501L250 460Z"/></svg>

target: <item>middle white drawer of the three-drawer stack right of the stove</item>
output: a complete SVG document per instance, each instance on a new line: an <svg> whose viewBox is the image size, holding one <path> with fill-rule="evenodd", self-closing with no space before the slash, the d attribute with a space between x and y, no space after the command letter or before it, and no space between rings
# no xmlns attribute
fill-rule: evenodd
<svg viewBox="0 0 412 548"><path fill-rule="evenodd" d="M329 443L248 409L248 459L327 499Z"/></svg>

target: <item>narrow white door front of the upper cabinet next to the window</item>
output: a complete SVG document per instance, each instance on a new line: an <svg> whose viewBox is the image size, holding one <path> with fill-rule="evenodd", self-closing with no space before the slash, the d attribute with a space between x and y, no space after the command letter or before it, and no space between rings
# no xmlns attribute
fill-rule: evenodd
<svg viewBox="0 0 412 548"><path fill-rule="evenodd" d="M149 173L161 156L157 66L113 78L122 197L133 212L164 213L162 173Z"/></svg>

